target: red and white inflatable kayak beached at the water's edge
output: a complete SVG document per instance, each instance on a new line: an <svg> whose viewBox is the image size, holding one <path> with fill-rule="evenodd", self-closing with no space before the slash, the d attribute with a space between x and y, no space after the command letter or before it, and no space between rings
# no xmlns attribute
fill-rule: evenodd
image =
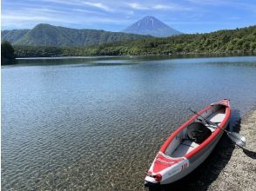
<svg viewBox="0 0 256 191"><path fill-rule="evenodd" d="M197 168L219 142L231 108L229 100L212 103L175 130L160 148L145 176L145 186L178 181ZM203 117L210 121L207 123ZM212 123L216 125L212 125Z"/></svg>

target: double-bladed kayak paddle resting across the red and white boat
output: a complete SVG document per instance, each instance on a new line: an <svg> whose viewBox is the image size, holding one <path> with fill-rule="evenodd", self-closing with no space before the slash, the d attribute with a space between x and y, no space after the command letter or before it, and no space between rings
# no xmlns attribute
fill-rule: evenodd
<svg viewBox="0 0 256 191"><path fill-rule="evenodd" d="M194 113L195 115L199 115L196 111L192 110L191 108L189 108L189 110L192 111L192 113ZM207 120L202 115L199 115L199 116L202 117L205 120L205 122L208 122L212 126L215 126L213 128L220 128L219 125L217 125L216 123L211 122L210 120ZM232 140L232 142L234 142L237 146L239 146L239 148L246 147L246 137L244 137L243 135L239 135L238 133L235 133L235 132L227 131L224 128L220 128L220 129L226 132L226 135Z"/></svg>

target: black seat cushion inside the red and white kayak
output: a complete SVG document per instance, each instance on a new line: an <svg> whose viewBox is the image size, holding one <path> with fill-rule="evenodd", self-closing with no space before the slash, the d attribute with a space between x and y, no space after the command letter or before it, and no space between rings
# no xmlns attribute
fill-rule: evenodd
<svg viewBox="0 0 256 191"><path fill-rule="evenodd" d="M212 131L206 128L202 122L192 122L187 126L187 135L192 142L200 144L212 135Z"/></svg>

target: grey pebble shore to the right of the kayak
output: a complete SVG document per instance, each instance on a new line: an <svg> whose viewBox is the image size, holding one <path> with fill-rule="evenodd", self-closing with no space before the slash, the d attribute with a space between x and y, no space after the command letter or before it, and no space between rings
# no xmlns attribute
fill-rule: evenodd
<svg viewBox="0 0 256 191"><path fill-rule="evenodd" d="M242 119L239 133L246 136L246 149L233 150L226 167L212 182L209 190L256 189L256 109Z"/></svg>

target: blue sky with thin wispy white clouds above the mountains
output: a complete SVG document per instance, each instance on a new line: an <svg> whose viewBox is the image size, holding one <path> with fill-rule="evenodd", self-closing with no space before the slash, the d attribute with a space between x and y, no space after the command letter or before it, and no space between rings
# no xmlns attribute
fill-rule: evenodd
<svg viewBox="0 0 256 191"><path fill-rule="evenodd" d="M2 0L2 30L50 23L120 31L144 16L176 30L202 33L256 24L255 0Z"/></svg>

